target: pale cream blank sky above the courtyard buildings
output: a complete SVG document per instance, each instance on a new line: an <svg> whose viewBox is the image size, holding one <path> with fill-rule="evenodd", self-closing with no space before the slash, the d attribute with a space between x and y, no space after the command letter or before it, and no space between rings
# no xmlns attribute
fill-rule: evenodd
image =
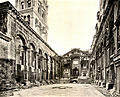
<svg viewBox="0 0 120 97"><path fill-rule="evenodd" d="M5 0L0 0L5 1ZM14 0L9 0L14 5ZM91 47L99 0L48 0L48 44L59 55Z"/></svg>

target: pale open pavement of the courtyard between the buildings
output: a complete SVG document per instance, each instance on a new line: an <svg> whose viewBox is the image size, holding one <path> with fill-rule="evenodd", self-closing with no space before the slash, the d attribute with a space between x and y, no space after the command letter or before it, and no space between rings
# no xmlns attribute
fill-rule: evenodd
<svg viewBox="0 0 120 97"><path fill-rule="evenodd" d="M105 97L89 84L54 84L14 92L10 97Z"/></svg>

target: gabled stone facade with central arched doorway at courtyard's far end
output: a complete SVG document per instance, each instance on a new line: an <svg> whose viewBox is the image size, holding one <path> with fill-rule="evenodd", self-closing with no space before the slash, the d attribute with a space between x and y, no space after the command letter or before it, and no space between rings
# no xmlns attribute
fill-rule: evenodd
<svg viewBox="0 0 120 97"><path fill-rule="evenodd" d="M63 56L64 78L88 78L89 52L72 49Z"/></svg>

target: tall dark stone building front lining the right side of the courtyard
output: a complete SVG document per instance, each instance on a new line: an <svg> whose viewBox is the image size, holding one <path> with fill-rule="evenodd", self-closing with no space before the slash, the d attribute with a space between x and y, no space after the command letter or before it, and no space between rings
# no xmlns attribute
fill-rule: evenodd
<svg viewBox="0 0 120 97"><path fill-rule="evenodd" d="M100 0L96 34L91 45L89 75L94 82L120 94L119 0Z"/></svg>

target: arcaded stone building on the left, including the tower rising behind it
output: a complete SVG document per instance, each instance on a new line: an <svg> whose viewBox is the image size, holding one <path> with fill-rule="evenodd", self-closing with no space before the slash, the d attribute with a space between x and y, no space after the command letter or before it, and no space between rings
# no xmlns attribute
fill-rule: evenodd
<svg viewBox="0 0 120 97"><path fill-rule="evenodd" d="M15 5L0 3L1 81L27 84L56 79L60 62L47 44L47 1L16 0Z"/></svg>

